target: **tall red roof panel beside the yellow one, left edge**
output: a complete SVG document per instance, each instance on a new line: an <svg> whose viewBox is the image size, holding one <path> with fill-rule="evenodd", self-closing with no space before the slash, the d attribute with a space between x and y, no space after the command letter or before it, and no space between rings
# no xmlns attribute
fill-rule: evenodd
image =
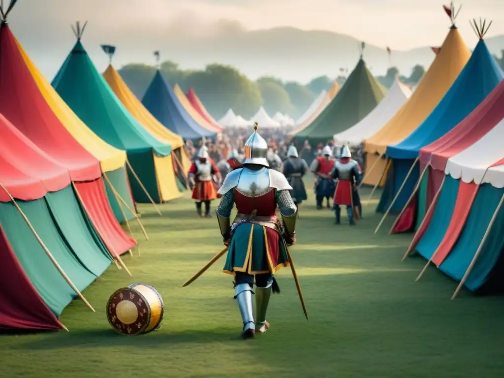
<svg viewBox="0 0 504 378"><path fill-rule="evenodd" d="M0 113L67 168L73 180L100 177L99 161L72 137L42 97L6 23L0 27L0 50Z"/></svg>

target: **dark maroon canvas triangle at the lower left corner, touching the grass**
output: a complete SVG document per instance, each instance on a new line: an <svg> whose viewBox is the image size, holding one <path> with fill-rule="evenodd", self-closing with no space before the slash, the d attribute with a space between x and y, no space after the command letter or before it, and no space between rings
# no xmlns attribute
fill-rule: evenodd
<svg viewBox="0 0 504 378"><path fill-rule="evenodd" d="M0 225L0 329L57 330L62 328L18 261Z"/></svg>

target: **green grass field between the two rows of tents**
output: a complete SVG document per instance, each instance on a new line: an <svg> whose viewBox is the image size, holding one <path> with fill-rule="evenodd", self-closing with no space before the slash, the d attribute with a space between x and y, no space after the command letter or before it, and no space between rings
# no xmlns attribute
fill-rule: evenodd
<svg viewBox="0 0 504 378"><path fill-rule="evenodd" d="M375 195L376 196L376 195ZM301 206L298 244L291 248L305 297L304 319L290 269L279 274L271 329L238 339L239 311L224 260L192 285L182 283L223 248L217 221L196 217L184 199L161 206L159 217L141 205L150 239L132 224L141 256L124 257L133 278L115 266L74 301L61 331L0 337L2 377L498 377L504 372L504 301L475 297L431 268L419 282L421 258L401 262L411 235L388 235L389 219L364 201L364 219L333 225L313 199ZM363 199L366 199L366 191ZM217 205L214 202L214 207ZM344 211L342 213L345 213ZM105 305L133 282L156 287L165 302L161 329L139 337L116 334ZM6 288L4 288L6 289Z"/></svg>

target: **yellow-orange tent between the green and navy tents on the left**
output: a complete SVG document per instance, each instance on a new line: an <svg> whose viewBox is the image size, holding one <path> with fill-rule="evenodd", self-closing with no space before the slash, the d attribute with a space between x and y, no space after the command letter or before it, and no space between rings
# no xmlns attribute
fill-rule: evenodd
<svg viewBox="0 0 504 378"><path fill-rule="evenodd" d="M183 170L187 172L189 170L189 167L191 166L191 162L188 161L187 156L183 151L184 141L182 137L165 128L151 113L149 113L149 111L144 107L140 100L133 94L130 88L128 88L124 80L122 80L121 76L112 67L112 65L109 65L107 67L107 69L103 73L103 78L108 83L117 98L122 102L124 107L133 115L133 117L142 125L145 130L147 130L158 141L166 144L171 144L173 150L181 148L181 161L178 163L180 163L183 167ZM175 159L178 159L175 154L172 154L170 160L173 157ZM164 201L179 198L181 196L179 191L175 190L176 181L173 169L171 170L171 172L167 173L167 175L169 175L169 177L166 177L165 180L168 180L169 187L165 188L165 190L163 191Z"/></svg>

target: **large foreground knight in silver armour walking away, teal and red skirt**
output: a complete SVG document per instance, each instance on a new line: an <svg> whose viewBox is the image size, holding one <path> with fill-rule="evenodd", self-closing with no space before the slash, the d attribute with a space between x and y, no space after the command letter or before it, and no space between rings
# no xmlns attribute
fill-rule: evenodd
<svg viewBox="0 0 504 378"><path fill-rule="evenodd" d="M245 142L243 167L230 172L220 188L222 198L216 211L224 244L229 247L223 271L235 278L234 298L243 321L243 338L268 331L271 293L279 292L274 274L289 266L287 246L296 239L297 207L289 194L292 187L282 173L270 169L267 143L257 133L257 123L254 129ZM230 222L233 205L238 214ZM283 222L275 215L277 206Z"/></svg>

